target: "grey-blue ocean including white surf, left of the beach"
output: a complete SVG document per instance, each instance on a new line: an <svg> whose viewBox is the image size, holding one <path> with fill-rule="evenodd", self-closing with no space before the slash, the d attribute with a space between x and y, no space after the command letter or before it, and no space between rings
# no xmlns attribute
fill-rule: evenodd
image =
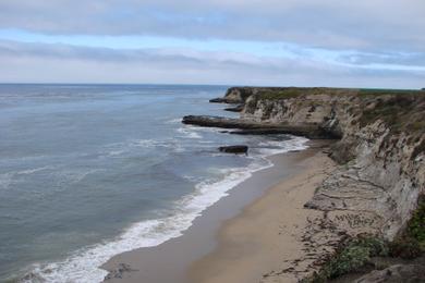
<svg viewBox="0 0 425 283"><path fill-rule="evenodd" d="M287 135L183 125L238 116L224 86L0 85L0 281L99 282L110 257L178 237ZM219 146L243 144L250 153Z"/></svg>

